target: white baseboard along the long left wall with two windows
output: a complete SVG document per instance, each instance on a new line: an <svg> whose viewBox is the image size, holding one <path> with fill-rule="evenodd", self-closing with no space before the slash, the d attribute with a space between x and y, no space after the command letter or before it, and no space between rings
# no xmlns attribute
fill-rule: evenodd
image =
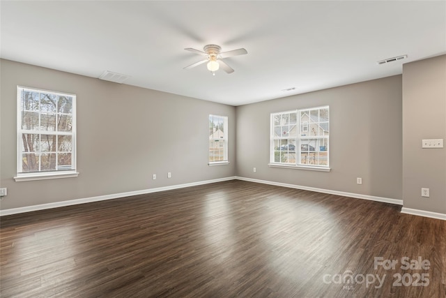
<svg viewBox="0 0 446 298"><path fill-rule="evenodd" d="M186 184L178 184L178 185L173 185L173 186L149 188L149 189L143 189L141 191L129 191L127 193L114 193L112 195L99 195L97 197L91 197L91 198L75 199L75 200L68 200L68 201L63 201L63 202L54 202L54 203L48 203L48 204L38 204L38 205L33 205L33 206L5 209L5 210L0 210L0 216L20 214L20 213L24 213L24 212L52 209L52 208L58 208L58 207L65 207L65 206L84 204L84 203L90 203L90 202L98 202L98 201L104 201L104 200L113 200L113 199L118 199L118 198L130 197L132 195L145 195L147 193L157 193L159 191L170 191L170 190L178 189L178 188L199 186L199 185L203 185L203 184L211 184L211 183L215 183L215 182L229 181L229 180L234 180L234 179L236 179L236 177L225 177L225 178L220 178L220 179L198 181L198 182L192 182L192 183L186 183Z"/></svg>

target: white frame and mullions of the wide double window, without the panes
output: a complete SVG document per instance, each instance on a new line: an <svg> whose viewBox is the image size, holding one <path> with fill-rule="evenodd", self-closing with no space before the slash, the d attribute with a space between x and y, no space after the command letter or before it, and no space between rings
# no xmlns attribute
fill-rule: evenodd
<svg viewBox="0 0 446 298"><path fill-rule="evenodd" d="M328 109L329 117L328 117L328 135L309 135L309 122L304 121L300 119L301 112L304 111L312 111L312 110L322 110L322 109ZM295 126L298 128L298 131L295 135L285 137L277 137L275 136L275 117L277 115L282 114L293 114L295 113L297 123ZM319 123L325 123L319 122ZM286 126L286 124L285 124ZM291 126L290 126L291 127ZM305 129L307 128L307 129ZM291 131L291 129L290 129ZM284 163L284 162L277 162L275 161L275 152L277 151L275 149L275 144L277 140L292 140L295 143L295 162L294 163ZM304 140L323 140L324 144L329 144L330 140L330 107L328 105L321 106L321 107L309 107L309 108L303 108L299 110L289 110L284 112L275 112L270 114L270 163L268 165L270 167L284 167L284 168L291 168L291 169L301 169L301 170L316 170L316 171L322 171L322 172L330 172L330 148L329 146L326 146L325 149L321 148L321 146L316 146L314 151L317 153L317 157L319 158L322 154L320 152L326 151L326 161L327 165L314 165L314 164L307 164L307 163L301 163L302 160L302 150L301 150L301 144ZM325 157L324 157L325 158Z"/></svg>

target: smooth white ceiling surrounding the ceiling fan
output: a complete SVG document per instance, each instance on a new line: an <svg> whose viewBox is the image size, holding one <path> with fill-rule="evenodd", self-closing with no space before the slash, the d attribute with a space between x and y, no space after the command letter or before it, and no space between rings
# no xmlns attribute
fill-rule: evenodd
<svg viewBox="0 0 446 298"><path fill-rule="evenodd" d="M401 74L446 53L446 1L1 1L3 59L243 105ZM184 50L217 44L236 71ZM408 59L376 61L407 54ZM293 91L282 91L295 87Z"/></svg>

